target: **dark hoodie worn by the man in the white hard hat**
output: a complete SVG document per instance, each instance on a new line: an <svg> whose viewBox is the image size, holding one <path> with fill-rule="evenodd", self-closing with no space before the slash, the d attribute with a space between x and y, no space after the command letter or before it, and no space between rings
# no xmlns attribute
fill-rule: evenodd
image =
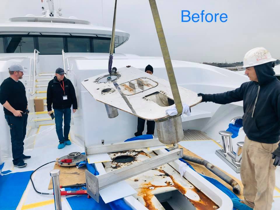
<svg viewBox="0 0 280 210"><path fill-rule="evenodd" d="M228 104L243 100L243 129L252 141L276 143L280 136L280 81L273 76L271 62L254 67L258 82L218 94L205 94L205 101ZM280 156L280 148L278 155Z"/></svg>

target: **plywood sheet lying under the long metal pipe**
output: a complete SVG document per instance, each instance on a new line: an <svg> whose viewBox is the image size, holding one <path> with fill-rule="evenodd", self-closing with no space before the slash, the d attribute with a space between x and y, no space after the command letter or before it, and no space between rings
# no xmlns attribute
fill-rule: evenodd
<svg viewBox="0 0 280 210"><path fill-rule="evenodd" d="M197 157L197 158L200 158L202 159L201 157L199 157L198 155L196 155L195 153L192 153L190 150L184 148L183 146L181 146L179 144L179 148L183 148L183 151L184 151L184 155L189 155L189 156L192 156L192 157ZM188 161L187 161L188 162ZM200 173L200 174L203 174L203 175L206 175L206 176L209 176L209 177L212 177L216 180L218 180L220 183L222 183L225 187L227 187L230 191L232 191L232 186L230 186L229 184L227 184L225 181L223 181L220 177L216 176L215 174L213 174L211 171L209 171L204 165L200 165L200 164L196 164L196 163L193 163L193 162L188 162L194 169L196 172ZM217 167L217 166L216 166ZM218 167L217 167L218 168ZM220 169L220 168L219 168ZM221 171L223 171L222 169L220 169ZM240 199L244 199L244 196L243 196L243 185L242 185L242 182L233 177L232 175L228 174L227 172L223 171L225 174L227 174L228 176L230 176L231 178L233 178L235 181L237 181L237 183L240 185L241 187L241 192L240 192L240 195L237 195Z"/></svg>

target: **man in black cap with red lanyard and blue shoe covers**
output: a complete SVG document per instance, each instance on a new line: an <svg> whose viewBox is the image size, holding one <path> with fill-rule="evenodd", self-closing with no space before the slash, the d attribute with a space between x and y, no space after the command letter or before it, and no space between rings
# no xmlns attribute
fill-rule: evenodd
<svg viewBox="0 0 280 210"><path fill-rule="evenodd" d="M73 113L78 109L76 93L73 84L69 79L64 77L64 70L58 68L55 71L55 77L49 82L47 89L47 108L48 114L52 113L52 105L55 111L55 128L59 144L58 149L65 145L70 145L68 139L71 121L71 106ZM62 121L64 115L64 130L62 130Z"/></svg>

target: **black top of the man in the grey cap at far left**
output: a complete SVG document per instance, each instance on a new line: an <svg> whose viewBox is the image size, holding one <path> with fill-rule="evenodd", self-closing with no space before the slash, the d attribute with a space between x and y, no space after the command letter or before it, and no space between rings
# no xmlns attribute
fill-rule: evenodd
<svg viewBox="0 0 280 210"><path fill-rule="evenodd" d="M25 87L21 81L14 81L12 78L6 78L0 85L0 103L3 105L6 101L15 109L25 111L27 107L27 98ZM4 107L6 115L13 115Z"/></svg>

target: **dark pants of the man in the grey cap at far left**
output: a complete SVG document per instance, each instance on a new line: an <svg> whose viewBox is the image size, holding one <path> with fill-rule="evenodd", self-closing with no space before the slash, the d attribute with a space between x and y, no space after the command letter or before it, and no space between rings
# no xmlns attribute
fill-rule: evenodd
<svg viewBox="0 0 280 210"><path fill-rule="evenodd" d="M22 117L15 117L14 115L5 115L5 118L10 126L13 163L18 164L22 161L23 155L23 140L26 134L27 114Z"/></svg>

